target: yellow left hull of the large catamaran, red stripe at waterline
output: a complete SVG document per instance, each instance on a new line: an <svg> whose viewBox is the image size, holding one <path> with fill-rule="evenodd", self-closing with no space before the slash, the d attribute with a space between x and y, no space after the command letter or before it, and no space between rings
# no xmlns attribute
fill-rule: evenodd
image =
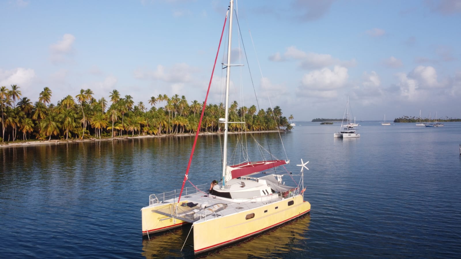
<svg viewBox="0 0 461 259"><path fill-rule="evenodd" d="M175 203L160 204L156 206L148 206L141 209L142 215L142 235L150 235L166 230L171 230L188 224L187 222L165 216L157 213L157 210L165 210L166 207L174 206Z"/></svg>

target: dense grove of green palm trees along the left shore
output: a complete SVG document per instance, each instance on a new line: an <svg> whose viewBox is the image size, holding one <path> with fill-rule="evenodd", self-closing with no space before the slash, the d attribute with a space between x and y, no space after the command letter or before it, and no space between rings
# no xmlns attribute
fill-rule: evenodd
<svg viewBox="0 0 461 259"><path fill-rule="evenodd" d="M52 91L47 87L32 105L29 98L19 98L21 91L18 89L15 86L16 94L9 95L6 87L0 88L0 141L27 140L28 137L63 140L190 134L197 130L203 106L197 100L188 102L185 96L175 94L169 98L166 94L160 94L146 100L146 104L151 105L146 107L142 101L136 104L130 95L121 97L117 90L109 93L107 100L111 103L108 105L104 97L96 100L90 89L81 89L77 95L67 95L54 105L50 103ZM15 101L18 101L16 106ZM218 123L219 118L224 118L224 104L207 104L201 131L222 131L223 125ZM254 105L239 107L233 101L229 109L229 121L245 122L229 124L231 132L292 129L279 106L257 111Z"/></svg>

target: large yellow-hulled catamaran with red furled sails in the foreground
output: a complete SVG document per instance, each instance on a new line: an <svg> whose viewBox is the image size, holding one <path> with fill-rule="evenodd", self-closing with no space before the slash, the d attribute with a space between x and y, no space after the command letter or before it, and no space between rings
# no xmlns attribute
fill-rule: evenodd
<svg viewBox="0 0 461 259"><path fill-rule="evenodd" d="M291 185L285 184L282 177L285 174L295 174L283 169L275 171L276 167L289 164L288 159L257 162L246 160L237 165L227 164L228 126L236 123L229 121L233 5L234 0L231 0L226 14L226 20L229 17L229 36L227 62L223 64L227 73L225 118L219 119L224 127L221 179L216 183L213 181L210 190L209 183L184 188L184 184L190 182L188 172L201 127L200 121L184 175L183 188L180 191L152 194L149 196L149 205L141 209L143 236L149 238L154 233L189 224L189 234L193 230L194 253L206 252L259 234L298 218L311 208L310 203L303 198L306 189L303 185L303 169L307 169L308 162L301 159L301 164L298 165L301 166L301 173L296 176L299 181ZM215 153L221 155L219 152ZM189 234L187 238L190 238Z"/></svg>

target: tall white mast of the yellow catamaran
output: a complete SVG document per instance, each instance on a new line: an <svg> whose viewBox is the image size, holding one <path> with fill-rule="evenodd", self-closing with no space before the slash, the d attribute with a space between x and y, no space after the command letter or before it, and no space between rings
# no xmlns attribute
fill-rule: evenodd
<svg viewBox="0 0 461 259"><path fill-rule="evenodd" d="M223 173L222 173L222 182L223 188L225 186L225 175L227 167L227 131L229 123L229 82L231 80L231 42L232 42L232 13L234 10L234 0L231 0L231 9L229 16L229 41L227 44L227 74L226 74L226 91L225 91L225 121L224 121L224 146L223 146Z"/></svg>

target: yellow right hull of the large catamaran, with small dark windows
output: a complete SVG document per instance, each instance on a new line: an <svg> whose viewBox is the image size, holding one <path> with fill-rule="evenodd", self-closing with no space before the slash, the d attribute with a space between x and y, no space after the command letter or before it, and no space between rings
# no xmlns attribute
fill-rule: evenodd
<svg viewBox="0 0 461 259"><path fill-rule="evenodd" d="M298 218L310 209L310 203L304 201L301 194L224 217L197 221L192 225L194 253L203 253L259 234Z"/></svg>

